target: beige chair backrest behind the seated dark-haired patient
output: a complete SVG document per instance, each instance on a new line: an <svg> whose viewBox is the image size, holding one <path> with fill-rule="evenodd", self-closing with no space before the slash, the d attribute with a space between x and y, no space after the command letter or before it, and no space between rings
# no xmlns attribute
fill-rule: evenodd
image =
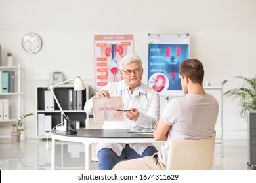
<svg viewBox="0 0 256 183"><path fill-rule="evenodd" d="M173 139L167 170L210 170L213 165L215 137L209 139Z"/></svg>

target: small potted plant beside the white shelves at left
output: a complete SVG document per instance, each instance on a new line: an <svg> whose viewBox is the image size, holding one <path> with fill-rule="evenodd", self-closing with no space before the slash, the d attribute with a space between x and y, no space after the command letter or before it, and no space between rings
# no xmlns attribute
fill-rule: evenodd
<svg viewBox="0 0 256 183"><path fill-rule="evenodd" d="M11 132L12 142L20 142L20 132L24 131L24 118L32 115L33 113L24 114L23 116L20 116L19 119L17 119L18 122L16 124L12 124L12 126L14 127L14 131Z"/></svg>

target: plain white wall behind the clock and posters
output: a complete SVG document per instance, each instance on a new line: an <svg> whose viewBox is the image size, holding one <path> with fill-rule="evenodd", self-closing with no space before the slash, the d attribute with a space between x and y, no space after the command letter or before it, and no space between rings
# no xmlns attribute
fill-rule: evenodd
<svg viewBox="0 0 256 183"><path fill-rule="evenodd" d="M14 63L24 66L24 112L34 112L35 86L47 84L50 72L81 76L93 92L94 35L133 34L147 71L148 33L189 33L190 58L202 61L212 85L228 80L226 91L240 86L235 76L255 76L255 7L254 0L0 0L2 59L5 64L12 52ZM30 31L43 39L37 54L21 46ZM166 103L162 97L161 108ZM224 100L224 138L246 138L247 123L238 112L238 101ZM26 133L36 137L35 116L26 120Z"/></svg>

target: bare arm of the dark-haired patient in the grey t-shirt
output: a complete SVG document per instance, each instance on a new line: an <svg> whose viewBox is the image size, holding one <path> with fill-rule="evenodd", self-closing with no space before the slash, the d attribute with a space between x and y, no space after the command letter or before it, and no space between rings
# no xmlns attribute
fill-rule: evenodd
<svg viewBox="0 0 256 183"><path fill-rule="evenodd" d="M167 125L163 118L160 118L154 127L154 139L156 141L166 141L170 128L171 125Z"/></svg>

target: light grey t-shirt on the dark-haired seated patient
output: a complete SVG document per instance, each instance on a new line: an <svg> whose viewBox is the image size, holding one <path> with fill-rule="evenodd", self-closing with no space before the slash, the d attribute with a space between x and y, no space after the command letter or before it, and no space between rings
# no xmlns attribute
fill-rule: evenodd
<svg viewBox="0 0 256 183"><path fill-rule="evenodd" d="M170 101L161 114L167 125L171 125L167 141L158 152L161 163L167 165L171 139L206 139L214 136L218 113L218 101L208 93L189 94Z"/></svg>

